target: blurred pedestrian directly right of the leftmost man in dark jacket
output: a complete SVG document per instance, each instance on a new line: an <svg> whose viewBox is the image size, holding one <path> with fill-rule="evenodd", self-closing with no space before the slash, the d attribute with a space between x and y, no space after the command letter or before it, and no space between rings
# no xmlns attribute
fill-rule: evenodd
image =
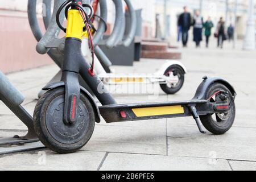
<svg viewBox="0 0 256 182"><path fill-rule="evenodd" d="M196 10L194 19L193 19L193 41L196 43L196 47L200 47L200 42L202 39L202 30L204 22L203 17L200 15L200 11Z"/></svg>

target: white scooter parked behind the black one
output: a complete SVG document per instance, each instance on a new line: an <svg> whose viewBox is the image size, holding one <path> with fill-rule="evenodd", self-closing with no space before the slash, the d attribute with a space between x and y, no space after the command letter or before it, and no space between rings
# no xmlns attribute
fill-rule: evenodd
<svg viewBox="0 0 256 182"><path fill-rule="evenodd" d="M82 54L86 60L92 62L91 52L88 46L88 40L82 42ZM159 83L160 88L167 94L175 94L178 92L184 83L184 75L187 69L182 63L175 60L167 60L160 69L149 74L121 74L121 73L107 73L102 67L97 56L94 56L94 70L102 82L107 85L121 85L121 84L155 84Z"/></svg>

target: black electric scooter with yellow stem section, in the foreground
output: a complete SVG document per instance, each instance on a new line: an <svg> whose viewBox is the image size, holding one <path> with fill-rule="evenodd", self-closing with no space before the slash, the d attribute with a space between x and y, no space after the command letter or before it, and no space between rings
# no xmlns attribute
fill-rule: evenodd
<svg viewBox="0 0 256 182"><path fill-rule="evenodd" d="M59 23L65 7L67 28ZM107 123L145 119L192 116L201 133L204 127L213 134L224 134L234 122L236 92L222 78L204 77L190 101L144 104L117 104L104 88L81 53L82 34L87 30L90 15L86 14L81 0L68 0L60 6L56 21L66 32L64 62L60 82L47 85L34 111L34 127L41 142L53 151L68 153L79 150L93 134L100 115ZM91 45L92 46L92 45ZM79 74L84 78L102 106L98 107L90 93L79 84Z"/></svg>

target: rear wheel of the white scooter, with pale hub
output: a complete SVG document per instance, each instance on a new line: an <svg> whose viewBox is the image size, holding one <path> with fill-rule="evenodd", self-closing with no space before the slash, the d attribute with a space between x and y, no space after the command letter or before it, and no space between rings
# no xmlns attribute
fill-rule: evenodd
<svg viewBox="0 0 256 182"><path fill-rule="evenodd" d="M164 75L169 77L166 84L160 84L160 88L167 94L179 92L184 84L184 71L179 65L171 65L166 69Z"/></svg>

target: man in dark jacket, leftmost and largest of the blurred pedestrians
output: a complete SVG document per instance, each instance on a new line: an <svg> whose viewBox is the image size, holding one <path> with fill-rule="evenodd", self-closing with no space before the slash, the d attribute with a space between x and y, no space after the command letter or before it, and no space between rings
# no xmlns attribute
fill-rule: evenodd
<svg viewBox="0 0 256 182"><path fill-rule="evenodd" d="M187 47L188 31L191 26L191 15L187 12L187 6L183 7L184 13L179 16L178 26L181 27L182 44L183 47Z"/></svg>

